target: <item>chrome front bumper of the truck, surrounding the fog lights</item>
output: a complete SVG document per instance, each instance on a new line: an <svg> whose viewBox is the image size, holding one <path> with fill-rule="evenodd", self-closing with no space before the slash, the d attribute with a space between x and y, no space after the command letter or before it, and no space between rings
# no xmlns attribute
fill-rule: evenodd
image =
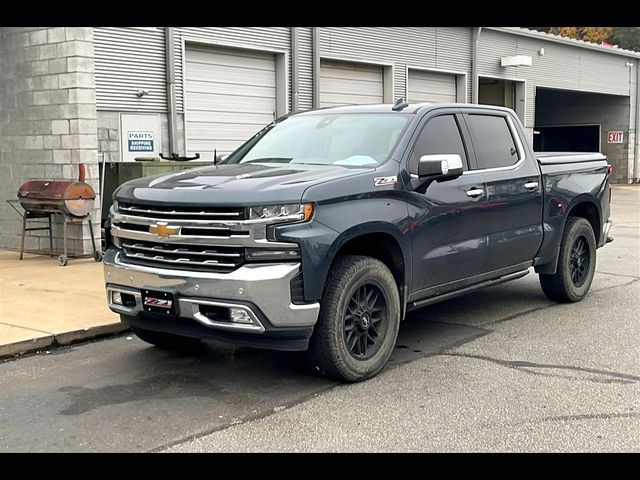
<svg viewBox="0 0 640 480"><path fill-rule="evenodd" d="M109 248L103 259L109 308L135 316L143 311L141 291L165 290L178 301L180 317L191 318L207 327L235 332L262 333L265 326L247 303L257 306L273 327L315 325L319 303L294 305L290 281L300 264L244 265L230 273L169 270L130 265L122 261L122 252ZM114 304L112 292L133 295L135 306ZM238 302L238 303L236 303ZM244 310L252 323L213 321L200 313L200 305L232 307Z"/></svg>

